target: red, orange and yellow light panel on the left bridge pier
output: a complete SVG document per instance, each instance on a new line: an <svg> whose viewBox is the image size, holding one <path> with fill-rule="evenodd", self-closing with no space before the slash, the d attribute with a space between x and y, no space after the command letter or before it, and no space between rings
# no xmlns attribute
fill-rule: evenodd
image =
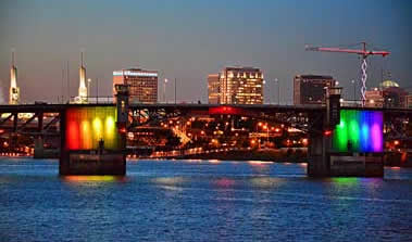
<svg viewBox="0 0 412 242"><path fill-rule="evenodd" d="M104 149L121 149L115 106L68 109L66 124L67 150L96 150L100 139L104 140Z"/></svg>

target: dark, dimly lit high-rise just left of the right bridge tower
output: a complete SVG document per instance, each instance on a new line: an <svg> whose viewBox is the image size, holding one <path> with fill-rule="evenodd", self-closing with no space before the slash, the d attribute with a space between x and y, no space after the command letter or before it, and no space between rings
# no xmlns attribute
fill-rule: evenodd
<svg viewBox="0 0 412 242"><path fill-rule="evenodd" d="M332 76L297 75L294 79L295 104L325 104L326 88L335 87Z"/></svg>

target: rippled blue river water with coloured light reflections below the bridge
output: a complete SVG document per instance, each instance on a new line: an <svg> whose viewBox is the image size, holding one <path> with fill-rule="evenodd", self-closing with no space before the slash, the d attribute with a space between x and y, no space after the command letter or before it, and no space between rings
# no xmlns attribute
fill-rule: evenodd
<svg viewBox="0 0 412 242"><path fill-rule="evenodd" d="M0 241L412 241L412 169L311 179L303 164L138 161L59 177L0 161Z"/></svg>

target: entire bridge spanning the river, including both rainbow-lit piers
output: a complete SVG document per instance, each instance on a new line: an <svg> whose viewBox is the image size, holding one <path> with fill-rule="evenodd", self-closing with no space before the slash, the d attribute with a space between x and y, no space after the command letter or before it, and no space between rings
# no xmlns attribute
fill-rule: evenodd
<svg viewBox="0 0 412 242"><path fill-rule="evenodd" d="M60 175L125 175L129 130L176 117L232 116L283 124L307 133L308 175L384 176L385 140L410 140L412 110L340 106L330 89L326 105L129 104L126 86L115 103L0 105L0 138L45 139L60 143Z"/></svg>

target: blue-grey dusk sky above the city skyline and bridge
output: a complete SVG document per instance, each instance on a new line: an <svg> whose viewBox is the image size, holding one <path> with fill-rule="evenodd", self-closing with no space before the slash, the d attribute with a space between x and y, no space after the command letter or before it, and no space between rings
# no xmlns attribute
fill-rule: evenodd
<svg viewBox="0 0 412 242"><path fill-rule="evenodd" d="M207 75L242 65L263 71L266 102L269 93L277 100L275 78L282 101L291 102L297 74L333 75L351 97L359 58L308 52L304 46L366 41L391 52L369 59L369 87L379 84L382 68L401 86L412 86L411 26L409 0L1 0L2 98L8 98L12 48L23 102L57 101L62 89L67 95L65 82L62 88L67 61L71 95L76 95L80 50L92 95L96 78L99 94L111 95L114 69L142 67L160 72L160 90L164 78L177 78L178 101L207 102ZM172 100L174 88L167 87Z"/></svg>

